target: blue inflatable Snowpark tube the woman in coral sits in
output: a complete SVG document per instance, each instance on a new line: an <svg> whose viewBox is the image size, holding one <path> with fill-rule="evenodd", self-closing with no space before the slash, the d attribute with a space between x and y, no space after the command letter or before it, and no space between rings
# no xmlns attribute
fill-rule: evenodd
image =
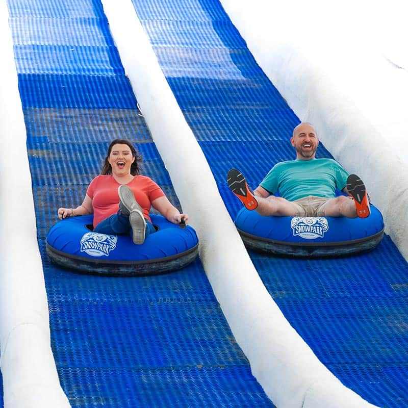
<svg viewBox="0 0 408 408"><path fill-rule="evenodd" d="M194 229L181 228L151 214L157 232L142 245L130 235L92 232L92 215L66 218L50 228L46 250L51 261L68 269L103 275L149 275L183 268L198 254Z"/></svg>

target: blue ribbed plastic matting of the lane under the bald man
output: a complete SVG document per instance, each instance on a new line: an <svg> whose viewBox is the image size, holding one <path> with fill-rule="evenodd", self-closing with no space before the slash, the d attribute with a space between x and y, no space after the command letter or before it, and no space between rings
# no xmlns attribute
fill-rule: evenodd
<svg viewBox="0 0 408 408"><path fill-rule="evenodd" d="M275 163L294 158L289 138L299 119L218 0L133 4L234 218L241 203L227 171L239 168L256 187ZM331 156L320 145L317 157ZM345 259L250 256L289 322L347 387L379 406L408 405L408 268L388 236Z"/></svg>

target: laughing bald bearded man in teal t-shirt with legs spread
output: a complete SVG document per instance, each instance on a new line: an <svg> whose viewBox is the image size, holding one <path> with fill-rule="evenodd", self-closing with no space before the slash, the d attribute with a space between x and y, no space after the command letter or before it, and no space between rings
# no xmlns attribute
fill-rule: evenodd
<svg viewBox="0 0 408 408"><path fill-rule="evenodd" d="M310 123L300 123L290 139L296 160L277 163L253 191L236 169L227 175L228 187L248 210L261 215L366 218L370 215L364 183L349 175L333 159L316 159L317 133ZM347 196L336 196L336 188ZM274 194L279 192L279 196Z"/></svg>

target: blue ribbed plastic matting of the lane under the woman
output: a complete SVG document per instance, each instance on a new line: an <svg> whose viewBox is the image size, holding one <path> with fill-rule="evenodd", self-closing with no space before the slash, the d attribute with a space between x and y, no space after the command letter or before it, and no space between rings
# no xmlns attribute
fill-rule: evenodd
<svg viewBox="0 0 408 408"><path fill-rule="evenodd" d="M97 1L9 0L27 128L52 347L72 407L272 407L197 258L118 278L50 264L60 206L82 202L114 138L137 143L142 173L180 208ZM192 220L194 223L194 220Z"/></svg>

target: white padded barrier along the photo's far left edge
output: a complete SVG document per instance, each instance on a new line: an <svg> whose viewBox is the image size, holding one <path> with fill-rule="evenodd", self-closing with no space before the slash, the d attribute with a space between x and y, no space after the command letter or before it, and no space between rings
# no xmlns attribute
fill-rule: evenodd
<svg viewBox="0 0 408 408"><path fill-rule="evenodd" d="M6 2L0 4L0 366L4 406L65 408L50 347L26 132ZM41 401L41 402L39 402Z"/></svg>

